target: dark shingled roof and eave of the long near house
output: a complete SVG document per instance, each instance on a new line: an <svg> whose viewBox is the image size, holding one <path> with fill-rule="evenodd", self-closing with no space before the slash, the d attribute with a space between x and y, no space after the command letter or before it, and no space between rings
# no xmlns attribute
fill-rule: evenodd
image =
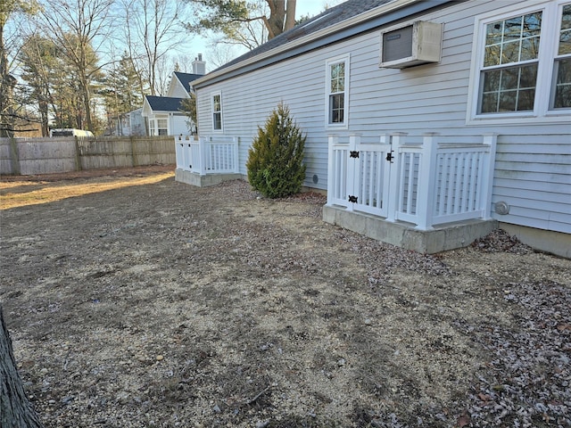
<svg viewBox="0 0 571 428"><path fill-rule="evenodd" d="M207 86L236 77L459 1L466 0L347 0L195 79L193 87Z"/></svg>

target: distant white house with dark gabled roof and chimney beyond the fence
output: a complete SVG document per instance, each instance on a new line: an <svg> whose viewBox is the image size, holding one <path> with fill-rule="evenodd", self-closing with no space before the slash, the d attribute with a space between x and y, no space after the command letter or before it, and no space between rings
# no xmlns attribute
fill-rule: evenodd
<svg viewBox="0 0 571 428"><path fill-rule="evenodd" d="M204 75L205 62L200 53L193 62L193 71L174 71L166 96L145 95L142 116L150 136L188 136L195 131L195 125L189 126L188 116L181 111L181 103L192 92L191 82Z"/></svg>

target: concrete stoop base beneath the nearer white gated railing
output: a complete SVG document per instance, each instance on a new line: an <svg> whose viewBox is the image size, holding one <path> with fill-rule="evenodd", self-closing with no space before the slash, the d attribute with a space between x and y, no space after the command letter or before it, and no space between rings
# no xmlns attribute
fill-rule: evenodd
<svg viewBox="0 0 571 428"><path fill-rule="evenodd" d="M323 207L323 220L383 243L426 254L467 247L477 238L488 235L498 227L496 220L469 220L438 225L434 230L422 231L409 223L393 223L362 212L329 205Z"/></svg>

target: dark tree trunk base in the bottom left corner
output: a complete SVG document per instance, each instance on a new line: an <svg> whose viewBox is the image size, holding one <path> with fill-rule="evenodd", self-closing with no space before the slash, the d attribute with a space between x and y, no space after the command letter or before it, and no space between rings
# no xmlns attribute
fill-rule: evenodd
<svg viewBox="0 0 571 428"><path fill-rule="evenodd" d="M0 426L2 428L42 428L26 397L12 350L12 340L0 307Z"/></svg>

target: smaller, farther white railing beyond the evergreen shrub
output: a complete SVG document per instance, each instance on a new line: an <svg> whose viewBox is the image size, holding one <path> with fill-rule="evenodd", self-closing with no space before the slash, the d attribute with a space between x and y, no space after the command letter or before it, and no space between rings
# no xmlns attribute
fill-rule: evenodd
<svg viewBox="0 0 571 428"><path fill-rule="evenodd" d="M238 141L232 137L176 136L177 169L206 174L238 173Z"/></svg>

